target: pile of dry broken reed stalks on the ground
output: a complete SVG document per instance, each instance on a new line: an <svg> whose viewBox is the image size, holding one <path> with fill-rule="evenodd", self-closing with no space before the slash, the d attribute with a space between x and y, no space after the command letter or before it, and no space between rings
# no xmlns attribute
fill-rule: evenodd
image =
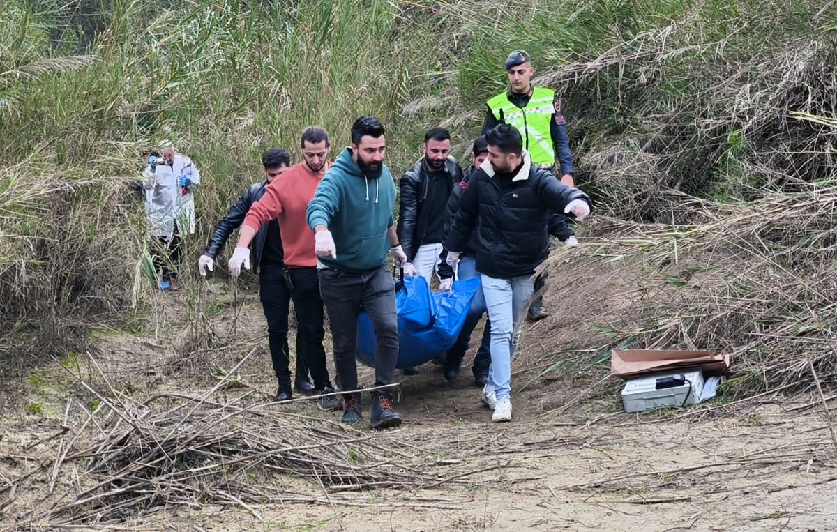
<svg viewBox="0 0 837 532"><path fill-rule="evenodd" d="M223 381L201 396L161 393L146 402L110 386L103 394L80 384L98 406L89 412L77 400L68 402L69 417L71 410L85 414L78 416L80 426L51 438L61 437L52 467L44 468L52 472L50 491L64 486L66 492L57 490L49 509L39 505L21 524L113 524L202 504L235 505L259 518L254 504L357 504L346 492L387 488L410 494L399 505L449 503L416 491L467 483L473 473L501 467L490 457L487 464L478 458L476 466L439 458L433 448L449 454L461 447L471 457L496 452L475 449L477 437L408 444L398 432L358 431L277 407L254 391L228 400L219 391Z"/></svg>

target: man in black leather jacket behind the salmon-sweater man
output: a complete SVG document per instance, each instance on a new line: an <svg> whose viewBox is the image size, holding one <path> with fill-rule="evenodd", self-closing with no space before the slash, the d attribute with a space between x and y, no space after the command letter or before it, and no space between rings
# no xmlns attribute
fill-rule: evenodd
<svg viewBox="0 0 837 532"><path fill-rule="evenodd" d="M229 212L218 223L212 238L206 249L198 259L198 269L201 275L206 275L206 270L213 271L215 258L221 252L223 244L229 236L244 223L250 207L264 196L264 188L276 177L280 176L290 166L290 155L281 149L272 149L264 152L262 156L264 166L264 181L254 183L239 197ZM290 299L284 298L285 289L285 251L282 248L279 223L276 220L264 224L259 228L259 233L254 238L253 254L255 258L255 269L259 266L259 294L261 297L264 317L267 318L268 335L270 343L270 358L273 361L273 369L276 378L280 383L280 390L277 392L277 401L290 399L290 371L289 360L290 350L288 347L288 315L290 312ZM297 331L296 335L296 381L297 393L310 395L314 393L314 385L308 378L308 371L305 366L304 357L301 356L302 335Z"/></svg>

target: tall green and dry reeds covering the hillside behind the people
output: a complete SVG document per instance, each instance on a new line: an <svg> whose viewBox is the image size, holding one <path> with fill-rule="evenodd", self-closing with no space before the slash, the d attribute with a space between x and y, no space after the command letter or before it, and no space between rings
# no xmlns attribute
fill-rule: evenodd
<svg viewBox="0 0 837 532"><path fill-rule="evenodd" d="M609 238L580 253L680 279L663 283L665 311L685 317L638 309L629 338L813 350L833 372L835 21L828 0L2 0L0 377L141 315L129 183L160 141L203 173L194 265L260 152L305 125L339 148L378 115L393 173L432 125L464 156L516 48L562 95L592 233ZM723 282L683 274L708 266ZM782 372L748 390L798 378L772 360L753 359L754 375Z"/></svg>

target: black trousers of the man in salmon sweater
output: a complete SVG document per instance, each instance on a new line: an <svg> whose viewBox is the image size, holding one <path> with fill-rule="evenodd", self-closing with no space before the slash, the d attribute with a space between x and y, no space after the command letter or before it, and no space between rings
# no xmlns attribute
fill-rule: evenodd
<svg viewBox="0 0 837 532"><path fill-rule="evenodd" d="M304 361L308 370L311 371L311 379L318 390L325 387L331 388L328 368L326 368L326 350L322 346L325 336L323 330L325 315L320 295L320 278L316 268L289 268L285 275L296 313L296 338L298 339L296 356L298 360Z"/></svg>

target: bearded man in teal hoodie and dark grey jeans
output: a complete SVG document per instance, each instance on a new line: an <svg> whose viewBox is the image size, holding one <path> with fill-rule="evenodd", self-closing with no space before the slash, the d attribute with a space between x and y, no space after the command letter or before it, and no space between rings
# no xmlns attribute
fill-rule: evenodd
<svg viewBox="0 0 837 532"><path fill-rule="evenodd" d="M343 150L326 172L308 204L314 230L320 290L331 323L334 364L344 394L341 422L362 419L357 390L357 315L365 311L377 337L375 386L393 384L398 361L398 316L387 253L407 262L393 227L395 182L383 164L386 140L374 116L352 125L352 146ZM372 392L373 429L398 427L392 387Z"/></svg>

